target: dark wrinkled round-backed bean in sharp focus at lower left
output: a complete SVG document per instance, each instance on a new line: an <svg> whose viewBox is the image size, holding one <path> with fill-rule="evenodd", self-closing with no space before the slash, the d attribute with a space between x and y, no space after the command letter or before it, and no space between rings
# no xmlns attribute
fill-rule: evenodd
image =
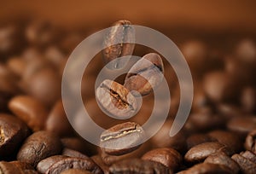
<svg viewBox="0 0 256 174"><path fill-rule="evenodd" d="M17 159L33 166L51 155L61 153L61 141L48 131L38 131L29 136L20 148Z"/></svg>

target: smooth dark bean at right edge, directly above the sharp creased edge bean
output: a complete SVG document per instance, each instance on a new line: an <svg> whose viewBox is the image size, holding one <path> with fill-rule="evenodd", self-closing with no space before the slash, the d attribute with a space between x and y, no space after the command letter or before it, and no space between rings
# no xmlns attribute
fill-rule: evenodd
<svg viewBox="0 0 256 174"><path fill-rule="evenodd" d="M227 124L230 131L235 131L241 136L247 136L250 131L256 129L256 117L254 116L242 116L230 119Z"/></svg>

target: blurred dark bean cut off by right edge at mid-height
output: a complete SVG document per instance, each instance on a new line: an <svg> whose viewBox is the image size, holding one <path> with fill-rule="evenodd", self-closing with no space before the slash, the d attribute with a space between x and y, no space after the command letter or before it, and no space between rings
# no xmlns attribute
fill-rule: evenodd
<svg viewBox="0 0 256 174"><path fill-rule="evenodd" d="M252 87L244 88L241 91L241 106L247 113L256 111L256 90Z"/></svg>

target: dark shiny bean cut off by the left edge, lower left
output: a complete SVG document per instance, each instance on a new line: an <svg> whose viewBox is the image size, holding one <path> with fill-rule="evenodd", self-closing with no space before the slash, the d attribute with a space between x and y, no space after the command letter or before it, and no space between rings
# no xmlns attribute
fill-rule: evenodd
<svg viewBox="0 0 256 174"><path fill-rule="evenodd" d="M0 114L0 158L11 156L30 131L25 123L9 114Z"/></svg>

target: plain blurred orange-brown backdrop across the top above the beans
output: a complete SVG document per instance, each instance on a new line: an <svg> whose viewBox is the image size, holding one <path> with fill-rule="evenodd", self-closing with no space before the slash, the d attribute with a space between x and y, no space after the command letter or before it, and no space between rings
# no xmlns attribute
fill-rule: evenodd
<svg viewBox="0 0 256 174"><path fill-rule="evenodd" d="M206 32L255 32L253 0L2 1L0 21L50 20L65 28L109 26L120 19L157 29L181 26Z"/></svg>

